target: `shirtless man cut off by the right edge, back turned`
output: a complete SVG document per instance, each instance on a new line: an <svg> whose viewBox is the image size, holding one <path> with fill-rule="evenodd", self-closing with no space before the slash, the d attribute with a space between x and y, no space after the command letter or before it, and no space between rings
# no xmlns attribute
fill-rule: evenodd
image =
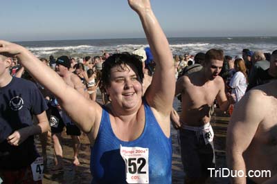
<svg viewBox="0 0 277 184"><path fill-rule="evenodd" d="M277 50L271 55L269 73L277 77ZM232 183L263 183L270 177L251 177L247 174L250 170L277 174L276 91L276 80L258 86L244 95L233 111L227 132L227 163L229 169L242 170L248 177L231 178Z"/></svg>

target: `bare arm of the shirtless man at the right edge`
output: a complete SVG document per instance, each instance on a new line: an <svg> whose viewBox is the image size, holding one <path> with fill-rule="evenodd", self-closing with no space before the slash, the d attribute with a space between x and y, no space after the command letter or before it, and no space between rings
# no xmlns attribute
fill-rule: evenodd
<svg viewBox="0 0 277 184"><path fill-rule="evenodd" d="M265 117L266 108L265 102L262 102L262 95L258 90L247 93L233 111L226 138L226 158L229 169L242 170L247 174L242 154L249 147L260 122ZM231 178L231 183L243 184L246 183L246 179Z"/></svg>

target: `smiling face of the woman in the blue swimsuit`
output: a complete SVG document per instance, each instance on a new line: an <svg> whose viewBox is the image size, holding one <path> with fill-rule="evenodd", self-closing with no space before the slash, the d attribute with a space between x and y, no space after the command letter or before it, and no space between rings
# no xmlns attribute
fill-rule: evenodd
<svg viewBox="0 0 277 184"><path fill-rule="evenodd" d="M141 106L142 84L138 71L132 64L111 68L110 86L106 88L112 105L125 110Z"/></svg>

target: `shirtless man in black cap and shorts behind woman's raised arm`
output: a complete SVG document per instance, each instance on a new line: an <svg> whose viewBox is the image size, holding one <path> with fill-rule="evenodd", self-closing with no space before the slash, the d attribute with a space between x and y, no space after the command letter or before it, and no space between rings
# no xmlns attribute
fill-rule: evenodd
<svg viewBox="0 0 277 184"><path fill-rule="evenodd" d="M69 68L71 67L71 62L69 60L69 57L67 56L61 56L57 58L56 65L55 65L55 71L57 74L59 74L64 82L68 84L69 86L76 89L79 93L84 95L86 98L88 97L87 91L85 91L85 86L82 84L80 78L71 73L69 71ZM74 165L80 165L80 162L78 160L78 154L80 149L80 129L78 129L77 126L74 125L74 123L71 121L71 119L66 115L62 109L60 109L60 106L57 104L57 109L53 110L58 113L55 113L55 115L51 116L51 118L55 118L55 120L51 119L51 132L52 132L52 138L53 138L53 146L56 156L56 167L54 169L62 169L62 146L60 144L61 140L61 132L64 128L64 125L66 126L66 134L70 135L73 140L73 150L74 150ZM59 117L59 118L57 118ZM62 120L57 120L62 119ZM57 123L54 123L57 122Z"/></svg>

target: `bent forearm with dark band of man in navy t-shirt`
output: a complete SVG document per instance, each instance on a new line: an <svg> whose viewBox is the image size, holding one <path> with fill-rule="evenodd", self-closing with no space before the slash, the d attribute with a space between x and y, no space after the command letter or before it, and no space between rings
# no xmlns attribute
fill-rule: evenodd
<svg viewBox="0 0 277 184"><path fill-rule="evenodd" d="M18 129L14 131L10 136L8 136L8 143L13 146L18 146L21 142L24 142L26 138L29 136L33 136L36 134L42 134L48 130L50 130L49 122L46 116L46 112L43 111L42 113L36 115L38 124L31 125L28 127L24 127L22 129Z"/></svg>

